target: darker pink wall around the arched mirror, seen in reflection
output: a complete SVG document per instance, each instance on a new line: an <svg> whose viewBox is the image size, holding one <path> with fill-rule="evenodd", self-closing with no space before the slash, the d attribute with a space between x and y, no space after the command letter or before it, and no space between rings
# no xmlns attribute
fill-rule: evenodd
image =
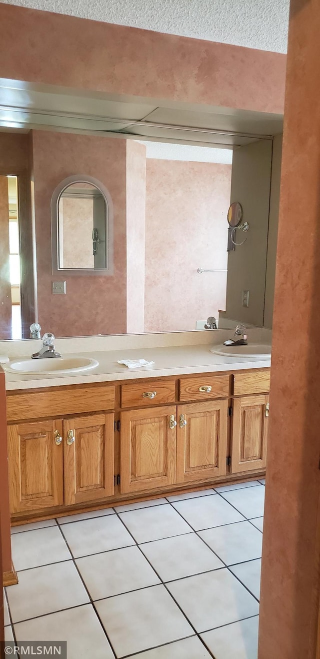
<svg viewBox="0 0 320 659"><path fill-rule="evenodd" d="M126 141L33 131L34 199L38 267L38 312L43 331L57 336L126 331ZM114 208L113 276L52 275L53 190L71 175L95 177L107 187ZM67 295L53 295L52 281L67 281Z"/></svg>

